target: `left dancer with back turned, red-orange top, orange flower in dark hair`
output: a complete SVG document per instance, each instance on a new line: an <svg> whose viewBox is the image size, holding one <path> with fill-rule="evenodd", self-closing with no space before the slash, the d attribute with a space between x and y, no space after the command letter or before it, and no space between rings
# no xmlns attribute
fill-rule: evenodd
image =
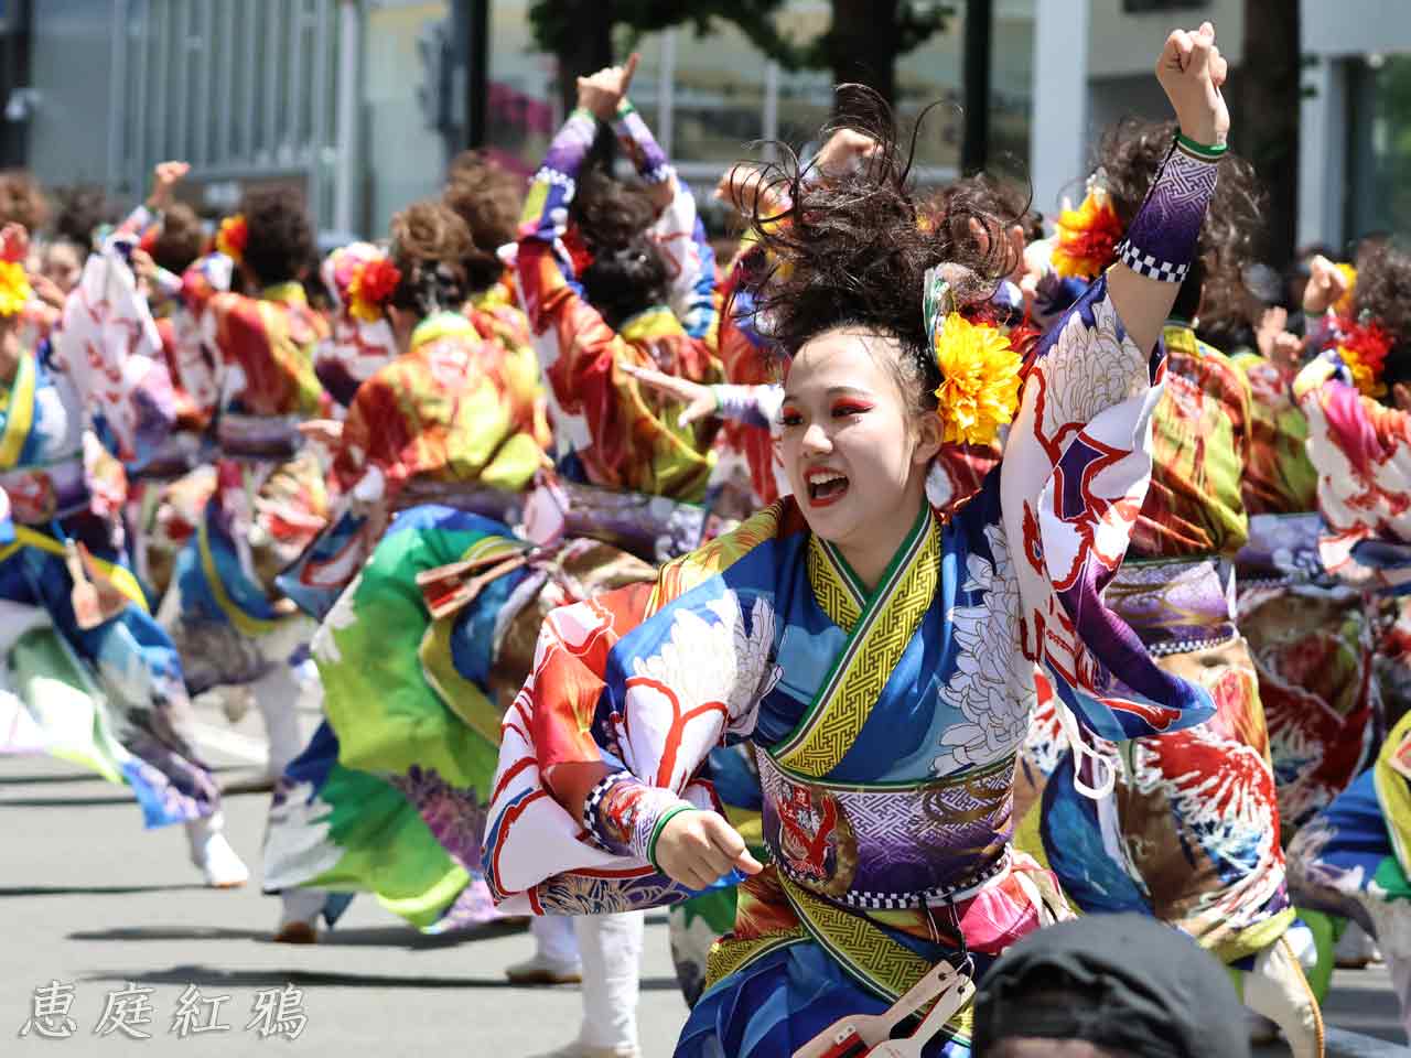
<svg viewBox="0 0 1411 1058"><path fill-rule="evenodd" d="M209 258L183 276L182 298L216 370L219 456L216 491L176 557L159 619L192 691L251 687L270 734L270 772L279 774L302 746L289 659L313 629L274 578L327 518L322 468L301 450L298 429L325 402L313 351L327 323L301 284L313 255L309 220L282 189L250 192L222 223L217 248L258 293L220 291Z"/></svg>

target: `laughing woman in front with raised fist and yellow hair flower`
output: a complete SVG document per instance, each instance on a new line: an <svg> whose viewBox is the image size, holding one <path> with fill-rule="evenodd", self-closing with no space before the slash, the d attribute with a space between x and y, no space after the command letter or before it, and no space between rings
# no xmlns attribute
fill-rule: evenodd
<svg viewBox="0 0 1411 1058"><path fill-rule="evenodd" d="M1222 144L1213 30L1174 32L1157 73L1184 134ZM555 612L502 729L484 859L502 908L617 911L749 876L680 1055L793 1054L938 961L978 975L1062 914L1053 876L1009 842L1034 663L1106 738L1212 711L1098 588L1150 473L1177 289L1163 276L1189 262L1215 165L1173 152L1132 264L1068 312L1020 395L1019 354L965 315L989 295L978 279L1012 268L1002 219L976 212L993 254L945 261L889 131L862 131L879 148L856 171L792 175L789 223L759 233L780 264L762 296L792 354L793 498L655 584ZM1000 467L937 518L933 458L1012 416ZM763 869L694 780L722 738L759 750ZM926 1054L968 1052L954 1006Z"/></svg>

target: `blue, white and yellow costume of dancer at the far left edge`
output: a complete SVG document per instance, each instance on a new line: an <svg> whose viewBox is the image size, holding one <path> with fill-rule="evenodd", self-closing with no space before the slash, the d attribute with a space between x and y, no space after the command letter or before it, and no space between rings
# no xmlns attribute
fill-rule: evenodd
<svg viewBox="0 0 1411 1058"><path fill-rule="evenodd" d="M220 796L193 749L181 657L123 564L121 467L86 432L85 403L135 463L175 419L152 319L111 243L89 258L55 341L21 348L0 387L0 624L11 664L3 748L126 782L148 827L202 820ZM116 488L99 467L116 470ZM96 600L83 598L89 590Z"/></svg>

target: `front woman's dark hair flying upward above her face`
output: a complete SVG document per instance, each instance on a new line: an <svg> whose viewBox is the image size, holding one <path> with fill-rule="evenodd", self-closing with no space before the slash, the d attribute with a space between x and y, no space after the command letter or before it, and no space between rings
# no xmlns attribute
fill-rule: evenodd
<svg viewBox="0 0 1411 1058"><path fill-rule="evenodd" d="M958 300L983 302L1017 264L1005 231L1022 223L1029 203L1005 209L988 189L964 183L944 200L921 197L912 179L916 144L937 104L921 111L903 145L878 93L861 85L838 92L848 95L848 113L824 127L820 142L851 128L876 141L875 151L848 172L823 174L777 144L782 159L761 175L765 193L752 207L735 203L769 260L756 292L761 327L786 355L838 327L890 336L902 347L902 392L917 411L934 408L941 378L924 320L926 272L951 265ZM789 205L765 214L762 202Z"/></svg>

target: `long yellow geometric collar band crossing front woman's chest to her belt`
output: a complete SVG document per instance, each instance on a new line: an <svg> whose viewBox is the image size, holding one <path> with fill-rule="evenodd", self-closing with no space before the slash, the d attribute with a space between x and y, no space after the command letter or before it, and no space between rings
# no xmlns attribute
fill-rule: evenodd
<svg viewBox="0 0 1411 1058"><path fill-rule="evenodd" d="M813 573L827 567L828 563L817 563L809 568ZM923 505L912 536L868 600L809 712L779 748L770 750L780 767L821 779L838 766L935 601L940 573L941 533L930 505ZM818 587L814 591L820 594ZM837 605L837 592L825 591L827 604ZM824 604L820 597L820 605Z"/></svg>

